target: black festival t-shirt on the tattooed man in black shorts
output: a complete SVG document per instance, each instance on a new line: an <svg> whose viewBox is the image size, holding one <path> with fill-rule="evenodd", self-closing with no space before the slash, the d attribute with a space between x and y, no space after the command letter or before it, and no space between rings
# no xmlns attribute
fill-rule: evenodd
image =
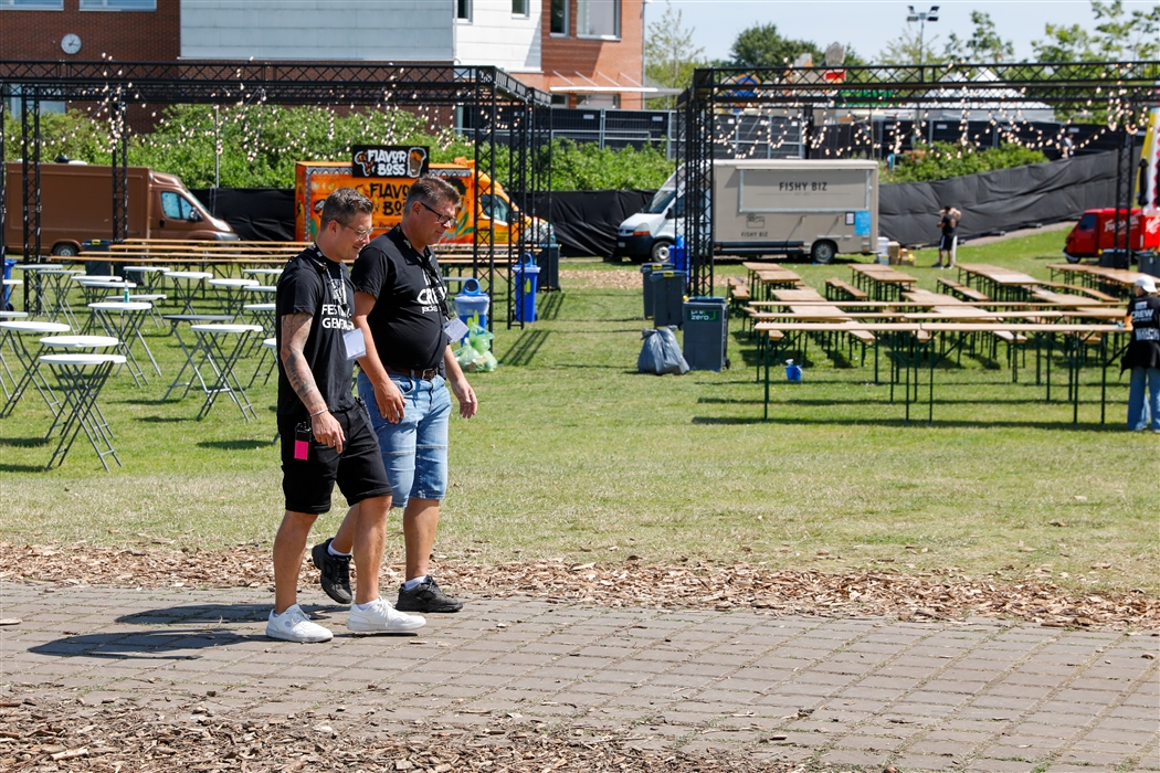
<svg viewBox="0 0 1160 773"><path fill-rule="evenodd" d="M276 337L282 351L282 321L287 314L310 314L310 335L303 353L314 375L318 392L327 408L339 410L355 404L350 387L355 360L347 359L342 335L354 329L354 286L342 263L322 256L310 246L287 263L278 279ZM278 362L278 416L300 416L310 411L287 379L282 357Z"/></svg>

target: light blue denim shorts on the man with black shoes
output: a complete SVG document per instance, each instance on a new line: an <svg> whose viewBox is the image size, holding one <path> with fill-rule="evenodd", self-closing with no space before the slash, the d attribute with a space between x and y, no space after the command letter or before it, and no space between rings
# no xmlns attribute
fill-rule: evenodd
<svg viewBox="0 0 1160 773"><path fill-rule="evenodd" d="M430 381L392 375L391 381L403 393L404 411L398 424L383 418L370 379L358 373L358 395L370 410L371 426L383 452L383 466L391 481L391 506L406 506L411 497L442 499L447 496L451 392L440 375Z"/></svg>

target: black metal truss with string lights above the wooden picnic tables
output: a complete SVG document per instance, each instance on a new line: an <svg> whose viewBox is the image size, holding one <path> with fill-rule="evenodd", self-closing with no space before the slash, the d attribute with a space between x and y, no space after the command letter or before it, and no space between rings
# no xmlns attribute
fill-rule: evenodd
<svg viewBox="0 0 1160 773"><path fill-rule="evenodd" d="M1117 144L1119 181L1115 205L1123 219L1125 247L1133 183L1137 126L1148 107L1160 102L1160 61L943 64L868 67L713 67L697 70L679 101L684 136L684 245L689 293L713 286L713 159L722 158L725 116L774 111L800 122L804 156L818 147L817 121L827 111L871 115L945 110L1017 114L1029 105L1057 112L1103 114L1123 136ZM695 205L693 203L701 203ZM1119 223L1117 223L1119 225Z"/></svg>

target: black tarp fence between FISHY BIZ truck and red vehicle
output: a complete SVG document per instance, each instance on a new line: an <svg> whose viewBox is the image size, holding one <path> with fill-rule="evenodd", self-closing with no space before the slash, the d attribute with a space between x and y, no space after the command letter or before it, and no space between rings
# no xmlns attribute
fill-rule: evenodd
<svg viewBox="0 0 1160 773"><path fill-rule="evenodd" d="M938 241L938 210L963 213L959 239L1075 220L1115 206L1116 154L1096 153L936 182L892 183L878 190L878 233L904 246Z"/></svg>

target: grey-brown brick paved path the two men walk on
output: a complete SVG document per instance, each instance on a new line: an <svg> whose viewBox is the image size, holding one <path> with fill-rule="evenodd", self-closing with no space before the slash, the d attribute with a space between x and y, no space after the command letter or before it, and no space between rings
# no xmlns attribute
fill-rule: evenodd
<svg viewBox="0 0 1160 773"><path fill-rule="evenodd" d="M267 640L255 589L0 583L0 697L131 701L182 715L324 717L341 731L499 734L545 724L643 748L882 770L1160 768L1160 649L1013 625L611 610L478 600L419 636Z"/></svg>

